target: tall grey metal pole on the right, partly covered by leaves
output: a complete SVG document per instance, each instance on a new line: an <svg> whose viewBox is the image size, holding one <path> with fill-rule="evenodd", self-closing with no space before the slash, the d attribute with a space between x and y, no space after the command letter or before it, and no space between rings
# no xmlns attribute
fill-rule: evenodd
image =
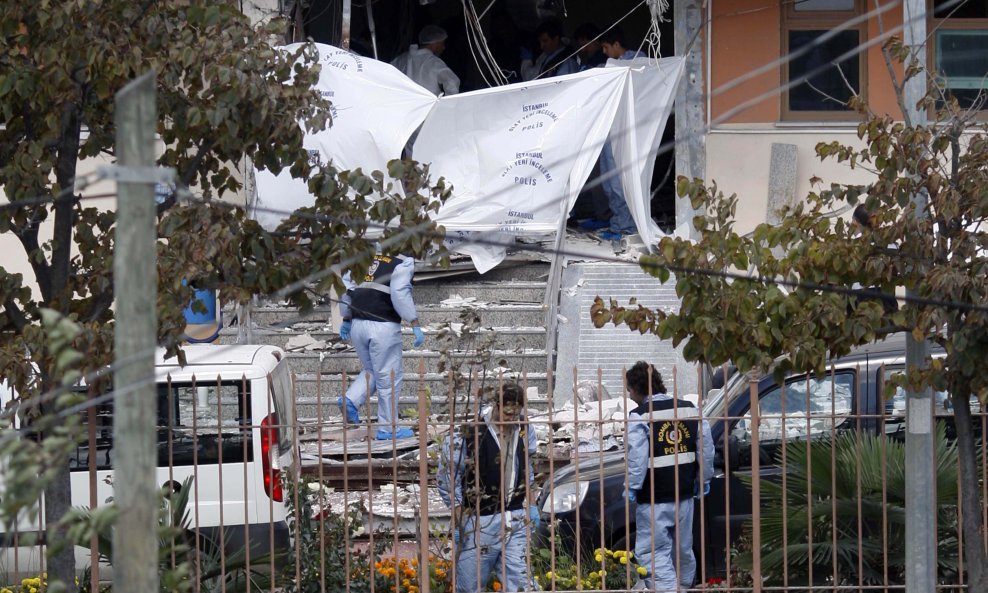
<svg viewBox="0 0 988 593"><path fill-rule="evenodd" d="M910 60L926 64L926 0L904 0L903 41ZM909 64L906 65L909 67ZM922 73L905 82L903 91L906 124L926 125L925 108L916 104L926 96ZM927 198L913 195L916 216L926 216ZM906 296L913 291L906 289ZM906 368L928 364L929 344L906 337ZM925 593L936 587L936 495L933 491L933 390L930 387L906 393L906 593Z"/></svg>

